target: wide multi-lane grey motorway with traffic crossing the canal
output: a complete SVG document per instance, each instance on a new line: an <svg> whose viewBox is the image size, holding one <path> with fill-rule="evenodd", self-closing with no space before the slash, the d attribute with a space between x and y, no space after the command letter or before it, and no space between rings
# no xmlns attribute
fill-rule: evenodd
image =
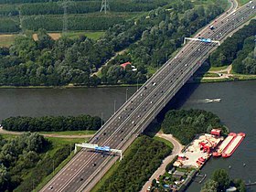
<svg viewBox="0 0 256 192"><path fill-rule="evenodd" d="M256 5L256 0L236 10L237 3L232 0L229 14L219 16L213 23L214 30L206 27L200 31L200 37L223 39L256 14L256 9L252 9L253 5ZM203 42L188 42L175 58L169 59L161 69L158 69L154 76L104 123L91 138L90 143L124 151L194 74L214 48L216 46ZM116 155L102 155L81 149L41 191L90 191L117 159Z"/></svg>

